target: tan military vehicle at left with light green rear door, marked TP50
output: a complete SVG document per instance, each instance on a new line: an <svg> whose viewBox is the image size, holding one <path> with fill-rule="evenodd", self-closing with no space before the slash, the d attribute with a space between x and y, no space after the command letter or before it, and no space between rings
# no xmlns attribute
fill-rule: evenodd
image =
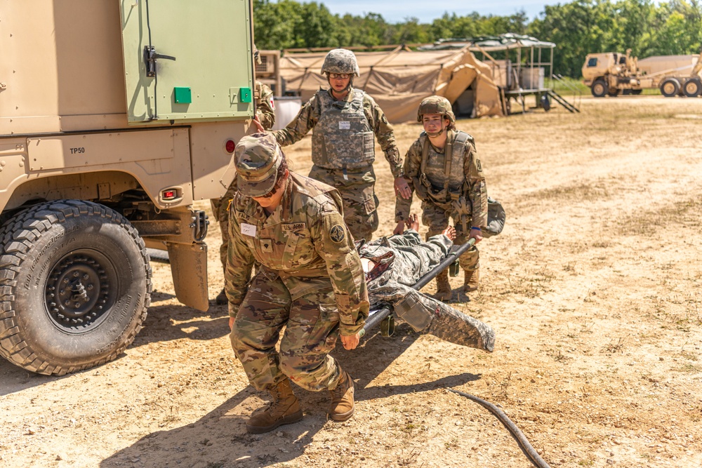
<svg viewBox="0 0 702 468"><path fill-rule="evenodd" d="M254 115L249 0L35 0L0 11L0 355L63 375L143 326L147 247L208 308L207 220Z"/></svg>

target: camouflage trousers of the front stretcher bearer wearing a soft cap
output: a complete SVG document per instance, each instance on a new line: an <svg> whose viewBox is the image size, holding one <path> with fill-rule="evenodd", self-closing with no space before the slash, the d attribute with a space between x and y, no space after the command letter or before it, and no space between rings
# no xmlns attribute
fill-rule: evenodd
<svg viewBox="0 0 702 468"><path fill-rule="evenodd" d="M280 278L258 274L239 307L230 338L256 389L273 387L288 376L300 387L319 392L336 387L339 380L339 366L329 356L338 335L331 282L328 288L293 299Z"/></svg>

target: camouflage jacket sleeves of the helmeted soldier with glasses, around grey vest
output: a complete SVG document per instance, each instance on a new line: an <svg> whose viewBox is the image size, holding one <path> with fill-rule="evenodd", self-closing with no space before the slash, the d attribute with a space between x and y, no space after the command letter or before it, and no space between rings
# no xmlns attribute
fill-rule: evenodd
<svg viewBox="0 0 702 468"><path fill-rule="evenodd" d="M305 102L305 105L300 109L298 115L286 128L272 132L279 145L292 145L294 142L302 140L305 135L317 125L322 115L321 102L324 100L324 97L320 98L320 95L323 93L331 96L331 90L317 91L309 101ZM350 88L346 96L346 102L352 102L353 98L354 89ZM371 130L375 133L376 138L378 138L380 148L385 152L385 159L390 163L392 175L396 178L399 177L402 175L402 158L399 155L399 149L397 149L397 144L395 143L395 132L392 130L392 126L385 117L383 109L380 109L376 101L366 93L363 93L362 106ZM312 152L314 151L315 148L313 146ZM319 151L319 149L317 149L317 151Z"/></svg>

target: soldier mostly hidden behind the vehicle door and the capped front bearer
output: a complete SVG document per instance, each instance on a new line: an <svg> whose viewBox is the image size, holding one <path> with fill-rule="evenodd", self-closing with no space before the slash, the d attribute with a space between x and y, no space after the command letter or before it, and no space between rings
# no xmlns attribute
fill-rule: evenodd
<svg viewBox="0 0 702 468"><path fill-rule="evenodd" d="M260 65L260 56L258 49L253 46L253 57L256 63ZM275 105L273 102L273 91L260 81L253 83L253 102L256 105L256 117L261 126L265 130L270 130L275 124ZM237 193L237 179L234 178L232 185L229 186L227 192L221 199L211 199L212 213L217 218L222 232L222 245L220 246L220 260L222 268L227 265L227 241L229 241L229 202L234 199L234 194ZM227 295L224 289L217 295L215 302L217 305L225 305L227 303Z"/></svg>

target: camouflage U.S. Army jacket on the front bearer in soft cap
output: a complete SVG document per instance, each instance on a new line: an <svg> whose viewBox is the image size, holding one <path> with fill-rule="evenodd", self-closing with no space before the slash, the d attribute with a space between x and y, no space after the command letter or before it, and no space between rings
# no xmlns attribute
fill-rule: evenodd
<svg viewBox="0 0 702 468"><path fill-rule="evenodd" d="M329 185L290 173L280 205L270 215L237 193L229 218L225 290L230 315L246 295L254 262L258 274L280 279L295 300L333 287L342 335L354 335L368 316L361 260L343 220L341 196Z"/></svg>

